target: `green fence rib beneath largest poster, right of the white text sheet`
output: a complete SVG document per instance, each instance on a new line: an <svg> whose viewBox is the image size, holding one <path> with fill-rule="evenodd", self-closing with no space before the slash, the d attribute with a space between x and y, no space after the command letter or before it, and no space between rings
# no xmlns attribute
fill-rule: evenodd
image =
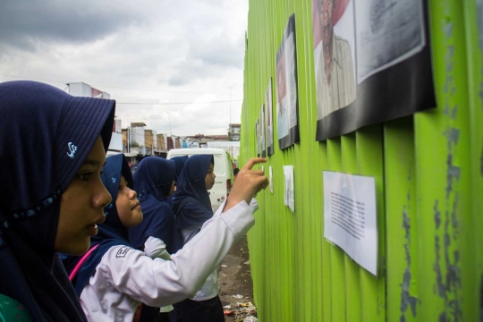
<svg viewBox="0 0 483 322"><path fill-rule="evenodd" d="M388 122L385 137L388 321L418 321L418 225L412 117Z"/></svg>

